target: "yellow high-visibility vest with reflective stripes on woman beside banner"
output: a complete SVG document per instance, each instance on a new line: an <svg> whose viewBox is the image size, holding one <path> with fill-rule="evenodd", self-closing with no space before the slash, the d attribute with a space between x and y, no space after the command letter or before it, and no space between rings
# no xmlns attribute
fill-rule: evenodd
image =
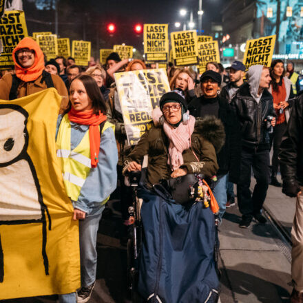
<svg viewBox="0 0 303 303"><path fill-rule="evenodd" d="M114 129L114 125L106 121L102 129L102 134L105 129L109 127ZM92 167L90 158L90 136L89 132L86 132L79 145L71 150L71 130L70 119L68 115L65 114L62 118L56 139L56 155L60 159L67 196L76 201L78 200L81 187L83 187L85 179L90 174ZM107 200L108 198L103 202L105 203Z"/></svg>

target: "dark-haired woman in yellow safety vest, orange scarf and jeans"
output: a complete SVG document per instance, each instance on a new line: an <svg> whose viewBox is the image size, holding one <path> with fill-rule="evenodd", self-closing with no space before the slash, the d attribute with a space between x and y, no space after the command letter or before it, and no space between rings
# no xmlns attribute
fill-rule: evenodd
<svg viewBox="0 0 303 303"><path fill-rule="evenodd" d="M118 152L114 125L106 121L106 105L96 81L77 76L70 101L56 128L57 156L67 196L79 220L81 289L59 295L59 302L87 302L96 280L96 236L109 195L116 189Z"/></svg>

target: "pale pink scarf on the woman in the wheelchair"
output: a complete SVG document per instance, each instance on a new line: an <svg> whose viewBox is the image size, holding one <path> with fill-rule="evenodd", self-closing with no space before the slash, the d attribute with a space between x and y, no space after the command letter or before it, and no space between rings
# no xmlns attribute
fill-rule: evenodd
<svg viewBox="0 0 303 303"><path fill-rule="evenodd" d="M155 125L159 123L159 118L162 114L159 107L153 110L151 116ZM174 128L166 121L163 124L163 130L167 138L169 138L169 158L167 163L171 165L173 171L184 163L182 151L191 147L191 134L194 132L195 121L194 116L189 116L187 125L180 123L178 127Z"/></svg>

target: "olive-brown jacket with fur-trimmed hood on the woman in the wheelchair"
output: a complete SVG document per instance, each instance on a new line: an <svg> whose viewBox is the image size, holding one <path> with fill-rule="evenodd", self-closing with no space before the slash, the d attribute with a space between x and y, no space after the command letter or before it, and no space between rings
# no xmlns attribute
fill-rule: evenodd
<svg viewBox="0 0 303 303"><path fill-rule="evenodd" d="M191 135L191 149L183 151L184 164L189 174L205 174L211 178L218 170L216 150L220 150L224 143L224 129L220 120L213 117L196 121L195 129ZM171 167L167 160L169 139L163 127L151 127L141 138L136 147L125 161L125 166L130 161L142 163L143 157L148 154L147 180L148 185L154 185L161 179L169 179ZM200 160L198 162L196 156Z"/></svg>

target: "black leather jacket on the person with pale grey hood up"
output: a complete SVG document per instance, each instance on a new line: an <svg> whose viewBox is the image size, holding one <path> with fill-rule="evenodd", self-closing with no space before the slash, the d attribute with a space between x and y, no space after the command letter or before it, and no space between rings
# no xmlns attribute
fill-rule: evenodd
<svg viewBox="0 0 303 303"><path fill-rule="evenodd" d="M267 116L275 117L273 109L273 96L268 90L264 90L259 103L251 96L249 84L244 83L231 101L231 107L238 115L242 147L249 149L269 149L269 129L265 120Z"/></svg>

